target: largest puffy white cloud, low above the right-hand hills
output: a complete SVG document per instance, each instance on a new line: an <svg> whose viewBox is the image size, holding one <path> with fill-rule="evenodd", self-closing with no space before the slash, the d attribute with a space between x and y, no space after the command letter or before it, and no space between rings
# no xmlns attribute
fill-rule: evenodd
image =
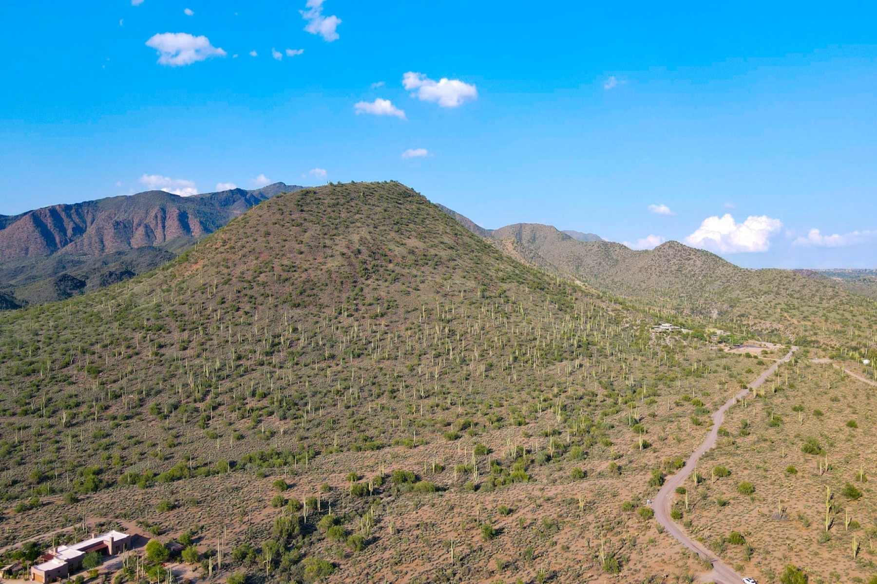
<svg viewBox="0 0 877 584"><path fill-rule="evenodd" d="M701 227L685 238L685 243L722 253L767 251L771 236L781 230L782 222L766 215L750 216L742 223L734 221L730 214L714 215L704 219Z"/></svg>

